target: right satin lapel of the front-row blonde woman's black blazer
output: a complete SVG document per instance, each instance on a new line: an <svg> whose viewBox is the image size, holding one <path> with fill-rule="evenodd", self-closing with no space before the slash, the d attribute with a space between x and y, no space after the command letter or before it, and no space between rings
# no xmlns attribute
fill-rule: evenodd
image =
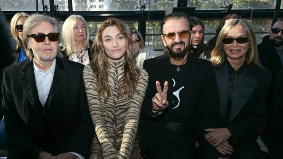
<svg viewBox="0 0 283 159"><path fill-rule="evenodd" d="M251 70L246 64L243 68L243 73L239 81L231 110L229 113L228 123L230 123L245 106L251 94L257 86L259 74L255 70Z"/></svg>

